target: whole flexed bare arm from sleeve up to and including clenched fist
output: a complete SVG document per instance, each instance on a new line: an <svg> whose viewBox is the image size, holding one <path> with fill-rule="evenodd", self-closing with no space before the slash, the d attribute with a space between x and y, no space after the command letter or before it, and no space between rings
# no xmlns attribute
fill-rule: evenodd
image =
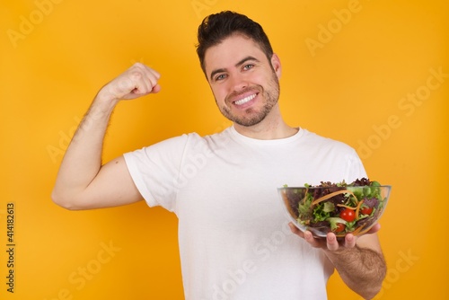
<svg viewBox="0 0 449 300"><path fill-rule="evenodd" d="M102 165L103 140L110 116L121 99L160 90L159 75L142 64L105 85L75 132L57 173L52 199L67 209L115 207L142 199L123 156Z"/></svg>

